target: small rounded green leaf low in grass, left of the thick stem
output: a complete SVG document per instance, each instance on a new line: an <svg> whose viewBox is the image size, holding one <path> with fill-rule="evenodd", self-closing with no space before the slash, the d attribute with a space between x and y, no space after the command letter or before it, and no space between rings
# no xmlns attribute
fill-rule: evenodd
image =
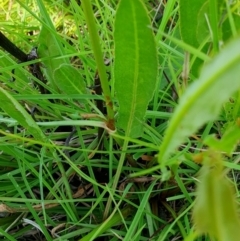
<svg viewBox="0 0 240 241"><path fill-rule="evenodd" d="M54 71L54 79L58 88L66 94L86 93L83 77L77 69L68 64L62 64Z"/></svg>

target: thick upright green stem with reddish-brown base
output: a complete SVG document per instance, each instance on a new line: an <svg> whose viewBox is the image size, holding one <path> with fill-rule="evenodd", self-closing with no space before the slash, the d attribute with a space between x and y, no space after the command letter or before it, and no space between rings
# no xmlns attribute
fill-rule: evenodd
<svg viewBox="0 0 240 241"><path fill-rule="evenodd" d="M108 77L106 73L106 67L103 61L103 54L100 46L100 39L97 33L97 28L95 24L95 18L93 15L91 1L83 0L82 2L83 11L85 13L85 18L88 26L88 31L90 35L90 40L92 43L93 54L96 59L98 74L100 77L101 87L104 94L106 107L107 107L107 116L108 116L108 127L112 130L114 127L114 111L113 104L111 99L111 92L108 84Z"/></svg>

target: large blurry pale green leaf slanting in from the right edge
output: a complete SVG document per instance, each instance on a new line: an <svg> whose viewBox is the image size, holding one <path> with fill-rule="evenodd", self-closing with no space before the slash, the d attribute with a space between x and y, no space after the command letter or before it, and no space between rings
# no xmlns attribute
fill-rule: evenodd
<svg viewBox="0 0 240 241"><path fill-rule="evenodd" d="M169 123L158 156L166 164L169 155L187 136L218 116L221 106L240 88L240 38L232 41L203 68L201 76L186 90Z"/></svg>

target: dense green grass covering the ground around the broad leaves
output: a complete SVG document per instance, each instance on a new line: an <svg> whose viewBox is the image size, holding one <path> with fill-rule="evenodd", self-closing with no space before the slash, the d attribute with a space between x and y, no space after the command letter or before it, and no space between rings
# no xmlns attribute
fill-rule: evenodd
<svg viewBox="0 0 240 241"><path fill-rule="evenodd" d="M156 40L158 77L143 132L134 138L116 122L113 29L118 1L91 1L93 13L77 1L25 2L0 3L0 31L25 53L39 47L33 62L41 63L47 84L31 75L28 63L0 49L0 240L212 240L196 237L192 222L201 168L196 155L205 153L203 140L210 134L224 137L234 125L239 93L214 121L181 140L166 165L158 157L168 147L158 154L162 143L173 145L174 134L166 139L165 133L179 98L199 77L198 69L220 51L219 31L224 29L217 28L216 18L213 39L208 33L195 45L194 39L184 39L178 1L143 1ZM210 10L212 18L219 14L213 4ZM239 30L231 15L235 10L227 8L231 36ZM186 67L190 72L182 80ZM97 69L103 93L97 91ZM34 83L48 93L41 94ZM106 106L107 97L112 106ZM192 106L183 107L188 111ZM239 150L234 151L223 166L238 193Z"/></svg>

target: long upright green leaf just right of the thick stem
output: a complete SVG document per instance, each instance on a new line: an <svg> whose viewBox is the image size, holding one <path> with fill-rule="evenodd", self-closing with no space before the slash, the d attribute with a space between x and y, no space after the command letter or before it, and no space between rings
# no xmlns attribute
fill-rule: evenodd
<svg viewBox="0 0 240 241"><path fill-rule="evenodd" d="M138 137L157 77L156 44L141 0L120 1L114 42L115 90L120 105L117 125L127 135Z"/></svg>

